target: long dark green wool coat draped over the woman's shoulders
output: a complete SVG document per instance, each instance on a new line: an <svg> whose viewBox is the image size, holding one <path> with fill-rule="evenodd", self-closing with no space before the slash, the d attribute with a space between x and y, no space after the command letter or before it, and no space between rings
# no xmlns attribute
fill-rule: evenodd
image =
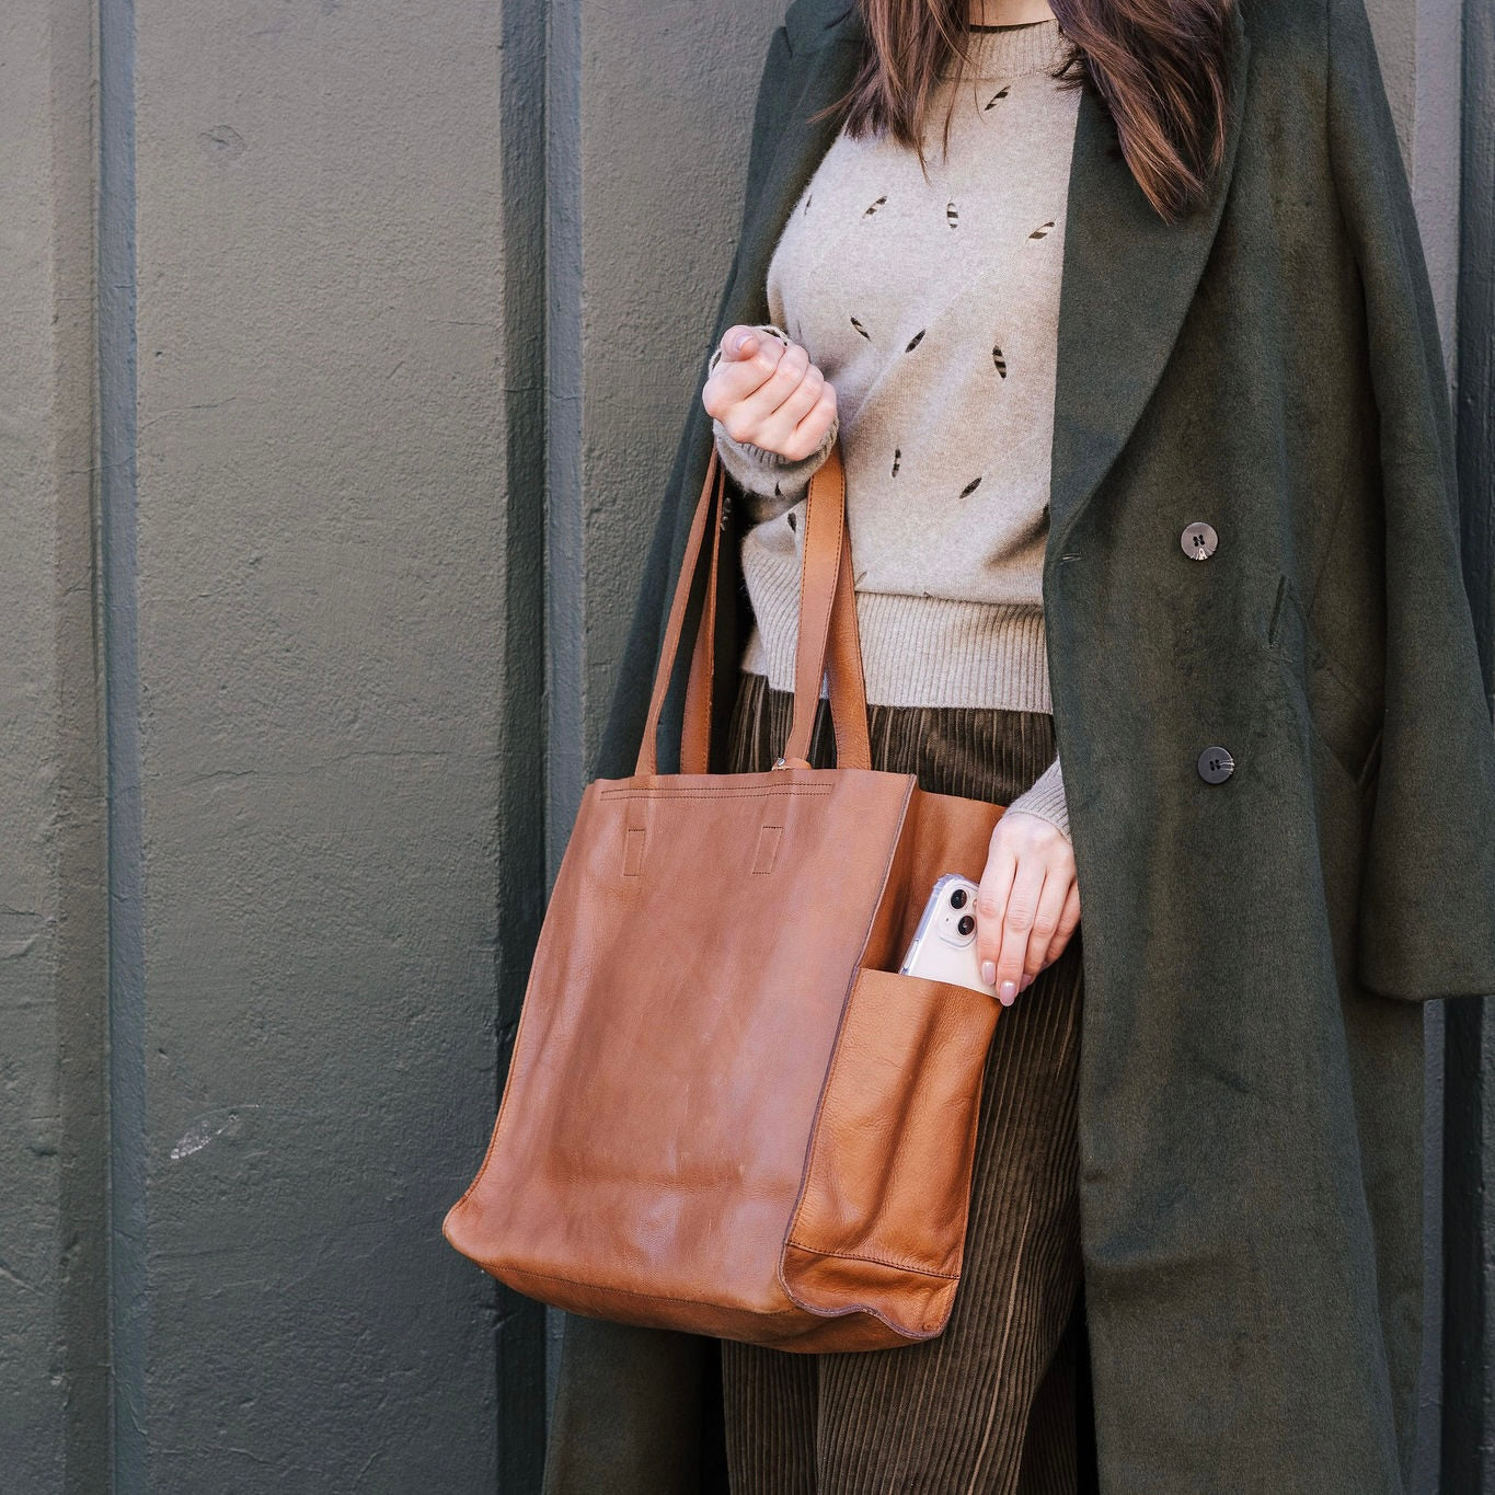
<svg viewBox="0 0 1495 1495"><path fill-rule="evenodd" d="M773 34L698 384L730 324L768 320L768 257L836 133L806 117L861 45L845 0L795 0ZM1064 235L1044 598L1099 1476L1375 1495L1407 1488L1416 1422L1422 1003L1495 993L1495 733L1363 0L1241 0L1232 46L1211 200L1159 220L1087 88ZM695 396L601 776L632 770L710 440ZM730 680L748 604L724 559ZM1235 770L1211 783L1217 746ZM724 1488L713 1350L568 1317L552 1495Z"/></svg>

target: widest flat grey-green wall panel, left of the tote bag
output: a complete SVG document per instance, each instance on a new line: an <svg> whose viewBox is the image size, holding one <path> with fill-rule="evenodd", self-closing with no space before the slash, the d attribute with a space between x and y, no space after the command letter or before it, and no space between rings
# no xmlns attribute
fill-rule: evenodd
<svg viewBox="0 0 1495 1495"><path fill-rule="evenodd" d="M499 24L136 4L155 1492L496 1480Z"/></svg>

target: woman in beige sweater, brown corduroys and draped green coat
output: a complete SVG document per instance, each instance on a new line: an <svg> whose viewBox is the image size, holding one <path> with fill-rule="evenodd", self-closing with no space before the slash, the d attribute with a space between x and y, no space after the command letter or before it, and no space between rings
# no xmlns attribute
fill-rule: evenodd
<svg viewBox="0 0 1495 1495"><path fill-rule="evenodd" d="M1078 91L982 78L1045 27L1079 48ZM949 78L963 51L975 69ZM843 139L839 106L875 99L887 138ZM934 142L951 100L925 178L896 121ZM873 166L897 191L861 193ZM940 170L969 173L963 200L940 202ZM1024 259L990 235L1026 193L1060 206ZM864 217L810 230L858 194ZM931 205L936 244L970 257L919 238ZM854 236L890 226L876 254ZM1060 265L1035 257L1054 244ZM1419 1003L1495 991L1495 745L1363 0L795 0L712 344L598 773L637 750L713 422L745 583L725 579L718 670L749 667L715 750L761 765L794 483L845 422L878 750L1009 804L981 945L999 990L1036 979L999 1023L979 1269L943 1343L774 1356L570 1319L547 1488L725 1488L730 1464L745 1489L1069 1489L1088 1368L1103 1488L1404 1489ZM1003 425L1009 393L1036 404Z"/></svg>

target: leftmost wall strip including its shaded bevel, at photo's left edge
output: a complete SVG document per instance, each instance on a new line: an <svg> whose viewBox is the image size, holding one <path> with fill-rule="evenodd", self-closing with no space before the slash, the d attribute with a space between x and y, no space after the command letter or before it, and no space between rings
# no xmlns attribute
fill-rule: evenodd
<svg viewBox="0 0 1495 1495"><path fill-rule="evenodd" d="M105 1477L91 10L0 13L0 1486Z"/></svg>

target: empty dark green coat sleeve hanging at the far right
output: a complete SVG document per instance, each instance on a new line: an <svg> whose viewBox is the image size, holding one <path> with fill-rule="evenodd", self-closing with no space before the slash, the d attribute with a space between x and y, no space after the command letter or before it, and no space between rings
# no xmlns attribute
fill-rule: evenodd
<svg viewBox="0 0 1495 1495"><path fill-rule="evenodd" d="M1328 0L1326 111L1365 299L1384 517L1384 716L1359 981L1495 993L1495 731L1459 555L1453 414L1432 292L1365 0Z"/></svg>

